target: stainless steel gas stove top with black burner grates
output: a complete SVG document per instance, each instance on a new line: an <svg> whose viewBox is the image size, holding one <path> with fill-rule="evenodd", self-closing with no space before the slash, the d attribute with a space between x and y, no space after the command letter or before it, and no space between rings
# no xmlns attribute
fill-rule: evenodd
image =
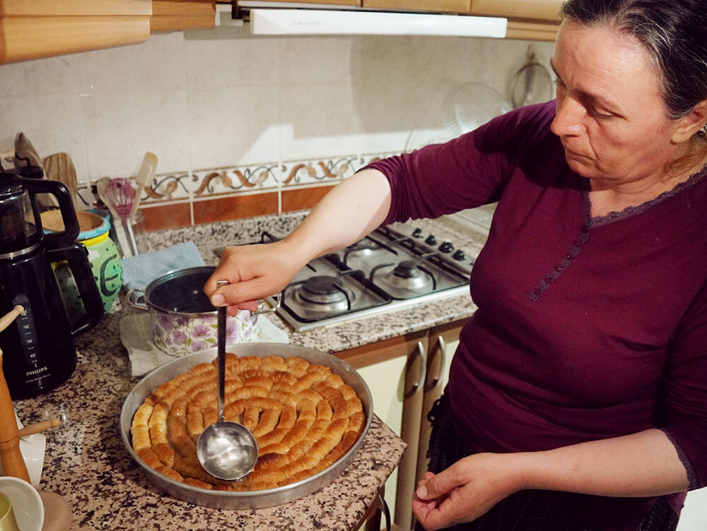
<svg viewBox="0 0 707 531"><path fill-rule="evenodd" d="M261 241L278 237L263 232ZM379 227L315 258L280 294L277 314L298 332L469 292L474 259L410 222ZM276 304L276 297L267 299Z"/></svg>

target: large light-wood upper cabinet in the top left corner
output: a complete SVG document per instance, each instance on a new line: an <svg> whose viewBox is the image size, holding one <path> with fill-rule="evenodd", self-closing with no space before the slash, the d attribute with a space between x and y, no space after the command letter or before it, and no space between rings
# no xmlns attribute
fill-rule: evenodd
<svg viewBox="0 0 707 531"><path fill-rule="evenodd" d="M136 44L151 0L0 0L0 63Z"/></svg>

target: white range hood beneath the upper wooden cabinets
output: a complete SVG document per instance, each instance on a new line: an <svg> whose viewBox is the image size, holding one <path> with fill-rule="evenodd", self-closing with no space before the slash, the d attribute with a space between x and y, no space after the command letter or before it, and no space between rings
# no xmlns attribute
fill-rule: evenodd
<svg viewBox="0 0 707 531"><path fill-rule="evenodd" d="M267 7L263 7L265 4ZM297 6L294 8L293 6ZM310 8L309 6L313 6ZM216 25L250 22L254 35L448 35L506 37L506 18L398 13L354 6L239 1L216 5ZM231 21L228 19L230 18Z"/></svg>

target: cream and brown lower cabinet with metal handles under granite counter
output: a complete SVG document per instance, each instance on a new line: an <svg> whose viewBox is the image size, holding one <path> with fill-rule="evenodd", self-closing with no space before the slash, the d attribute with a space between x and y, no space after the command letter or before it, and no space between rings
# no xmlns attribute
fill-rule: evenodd
<svg viewBox="0 0 707 531"><path fill-rule="evenodd" d="M426 470L427 412L446 385L463 324L456 321L336 354L358 370L373 394L373 411L408 445L385 484L395 529L414 527L411 499Z"/></svg>

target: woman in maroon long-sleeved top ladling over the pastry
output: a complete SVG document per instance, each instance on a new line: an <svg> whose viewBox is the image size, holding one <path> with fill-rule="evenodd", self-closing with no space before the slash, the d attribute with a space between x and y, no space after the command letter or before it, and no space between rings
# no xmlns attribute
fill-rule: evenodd
<svg viewBox="0 0 707 531"><path fill-rule="evenodd" d="M556 102L375 162L205 287L252 308L382 222L498 201L413 501L428 530L670 530L707 484L707 0L563 13Z"/></svg>

